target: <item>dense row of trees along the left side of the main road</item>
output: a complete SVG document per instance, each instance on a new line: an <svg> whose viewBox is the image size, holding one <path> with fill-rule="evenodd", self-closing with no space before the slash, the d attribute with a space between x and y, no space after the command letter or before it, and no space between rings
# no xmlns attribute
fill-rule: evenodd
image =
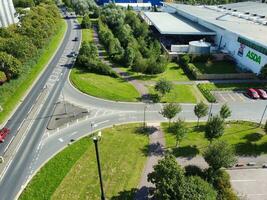
<svg viewBox="0 0 267 200"><path fill-rule="evenodd" d="M1 79L17 78L28 71L34 58L57 30L60 15L54 2L43 0L30 11L23 11L19 24L0 28Z"/></svg>

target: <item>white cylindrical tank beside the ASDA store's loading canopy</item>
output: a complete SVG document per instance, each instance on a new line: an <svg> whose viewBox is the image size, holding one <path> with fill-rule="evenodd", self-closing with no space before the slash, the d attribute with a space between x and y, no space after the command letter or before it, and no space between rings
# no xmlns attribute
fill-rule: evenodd
<svg viewBox="0 0 267 200"><path fill-rule="evenodd" d="M211 44L203 40L189 42L189 51L191 54L209 54Z"/></svg>

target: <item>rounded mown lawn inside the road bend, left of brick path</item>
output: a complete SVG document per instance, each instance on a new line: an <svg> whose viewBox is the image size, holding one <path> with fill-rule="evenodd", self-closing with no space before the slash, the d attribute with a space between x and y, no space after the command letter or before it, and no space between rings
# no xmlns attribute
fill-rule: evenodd
<svg viewBox="0 0 267 200"><path fill-rule="evenodd" d="M86 73L74 68L70 80L80 91L103 99L134 102L140 97L134 86L121 78Z"/></svg>

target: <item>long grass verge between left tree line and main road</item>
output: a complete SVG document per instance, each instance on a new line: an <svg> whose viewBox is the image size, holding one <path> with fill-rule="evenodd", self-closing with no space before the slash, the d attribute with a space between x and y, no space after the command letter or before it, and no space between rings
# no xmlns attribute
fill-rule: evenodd
<svg viewBox="0 0 267 200"><path fill-rule="evenodd" d="M11 80L9 83L1 86L0 105L3 107L3 111L0 112L0 124L3 123L13 111L37 76L48 64L57 50L66 29L67 24L65 20L62 19L56 34L49 40L50 42L38 52L39 57L37 56L35 60L33 58L33 61L29 62L31 66L25 67L24 73L22 73L18 79Z"/></svg>

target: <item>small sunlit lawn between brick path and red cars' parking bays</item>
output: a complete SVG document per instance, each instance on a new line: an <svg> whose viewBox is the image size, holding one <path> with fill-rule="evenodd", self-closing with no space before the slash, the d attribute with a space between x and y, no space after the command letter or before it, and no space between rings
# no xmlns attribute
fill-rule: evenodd
<svg viewBox="0 0 267 200"><path fill-rule="evenodd" d="M151 94L156 93L154 87L149 87ZM174 85L170 93L161 98L162 103L197 103L196 88L193 85Z"/></svg>

